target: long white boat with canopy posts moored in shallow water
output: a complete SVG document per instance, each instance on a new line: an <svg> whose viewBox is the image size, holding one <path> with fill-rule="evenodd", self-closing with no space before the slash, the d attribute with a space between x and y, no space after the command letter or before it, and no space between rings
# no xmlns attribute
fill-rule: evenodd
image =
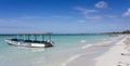
<svg viewBox="0 0 130 66"><path fill-rule="evenodd" d="M16 45L16 47L28 47L28 48L49 48L53 47L53 41L51 40L51 37L49 37L48 40L44 40L43 35L40 35L41 40L37 40L38 35L31 35L35 37L35 40L30 39L30 35L27 35L27 39L25 38L25 35L22 35L23 39L20 39L18 35L17 38L13 39L5 39L5 42L8 42L10 45Z"/></svg>

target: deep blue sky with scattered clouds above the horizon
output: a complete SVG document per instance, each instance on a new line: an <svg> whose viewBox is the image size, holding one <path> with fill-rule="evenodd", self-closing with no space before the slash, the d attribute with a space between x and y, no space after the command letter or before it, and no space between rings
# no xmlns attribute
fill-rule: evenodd
<svg viewBox="0 0 130 66"><path fill-rule="evenodd" d="M130 0L0 0L0 34L130 29Z"/></svg>

